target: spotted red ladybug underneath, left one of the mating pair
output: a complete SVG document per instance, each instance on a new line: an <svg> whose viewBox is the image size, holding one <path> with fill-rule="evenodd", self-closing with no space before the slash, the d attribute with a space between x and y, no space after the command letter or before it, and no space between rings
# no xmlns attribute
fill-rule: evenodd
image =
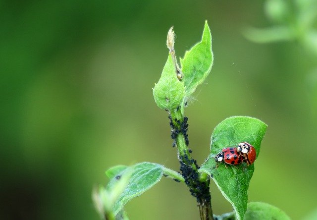
<svg viewBox="0 0 317 220"><path fill-rule="evenodd" d="M215 156L216 162L224 161L226 164L238 165L244 160L242 155L239 155L237 148L223 148L222 151Z"/></svg>

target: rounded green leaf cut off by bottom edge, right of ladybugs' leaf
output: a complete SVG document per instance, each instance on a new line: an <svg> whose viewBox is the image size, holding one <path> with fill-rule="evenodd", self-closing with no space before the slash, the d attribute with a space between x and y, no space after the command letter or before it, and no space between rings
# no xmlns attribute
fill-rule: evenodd
<svg viewBox="0 0 317 220"><path fill-rule="evenodd" d="M245 220L290 220L290 218L275 206L252 202L248 204Z"/></svg>

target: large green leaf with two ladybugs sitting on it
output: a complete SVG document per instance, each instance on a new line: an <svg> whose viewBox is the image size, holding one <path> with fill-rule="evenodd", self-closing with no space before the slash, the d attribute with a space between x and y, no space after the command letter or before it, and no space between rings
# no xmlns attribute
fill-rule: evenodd
<svg viewBox="0 0 317 220"><path fill-rule="evenodd" d="M257 157L267 125L259 119L245 116L229 117L220 122L211 136L211 154L199 169L208 173L222 195L232 204L237 219L243 219L248 204L249 182L254 164L246 166L217 163L214 157L225 147L236 147L240 142L254 146Z"/></svg>

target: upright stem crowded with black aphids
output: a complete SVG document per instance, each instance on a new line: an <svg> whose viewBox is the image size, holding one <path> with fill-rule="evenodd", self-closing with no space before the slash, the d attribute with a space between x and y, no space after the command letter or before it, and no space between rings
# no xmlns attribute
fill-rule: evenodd
<svg viewBox="0 0 317 220"><path fill-rule="evenodd" d="M180 162L180 170L189 191L196 197L200 211L201 220L213 220L211 209L211 194L209 191L209 176L204 173L199 173L199 166L194 160L188 149L188 124L187 117L182 114L181 108L177 108L169 113L171 137L177 147L178 159Z"/></svg>

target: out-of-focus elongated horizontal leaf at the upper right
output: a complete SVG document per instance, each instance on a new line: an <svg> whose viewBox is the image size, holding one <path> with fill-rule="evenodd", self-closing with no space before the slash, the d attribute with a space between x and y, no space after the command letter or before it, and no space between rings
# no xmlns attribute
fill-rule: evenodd
<svg viewBox="0 0 317 220"><path fill-rule="evenodd" d="M294 39L293 31L286 26L275 26L265 29L246 28L243 35L256 43L271 43L277 41L289 41Z"/></svg>

